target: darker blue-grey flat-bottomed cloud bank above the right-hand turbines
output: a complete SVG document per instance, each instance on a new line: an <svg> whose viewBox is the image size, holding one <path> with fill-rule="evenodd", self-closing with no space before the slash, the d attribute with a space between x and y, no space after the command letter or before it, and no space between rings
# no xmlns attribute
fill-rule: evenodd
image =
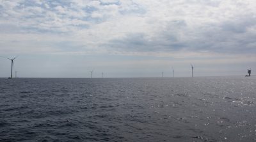
<svg viewBox="0 0 256 142"><path fill-rule="evenodd" d="M168 22L166 28L152 38L143 33L127 34L110 40L108 47L123 51L172 52L172 51L211 51L220 53L256 53L255 18L208 23L189 29L185 20Z"/></svg>

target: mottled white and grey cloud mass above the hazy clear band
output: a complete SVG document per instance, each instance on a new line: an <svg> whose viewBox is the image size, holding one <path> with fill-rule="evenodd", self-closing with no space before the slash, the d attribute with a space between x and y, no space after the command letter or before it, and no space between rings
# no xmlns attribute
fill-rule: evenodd
<svg viewBox="0 0 256 142"><path fill-rule="evenodd" d="M250 0L2 1L0 36L47 35L52 40L43 38L41 42L54 44L54 49L56 36L61 35L57 42L70 41L68 46L74 51L79 44L81 52L94 48L109 52L248 54L256 52L254 6ZM29 44L28 39L17 40ZM15 44L12 41L3 38L1 43ZM61 45L56 48L72 52Z"/></svg>

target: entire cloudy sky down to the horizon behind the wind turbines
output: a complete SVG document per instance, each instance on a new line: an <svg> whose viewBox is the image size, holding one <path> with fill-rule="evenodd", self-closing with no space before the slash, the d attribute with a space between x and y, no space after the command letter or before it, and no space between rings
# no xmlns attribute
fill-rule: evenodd
<svg viewBox="0 0 256 142"><path fill-rule="evenodd" d="M246 75L255 0L0 0L0 56L18 77ZM0 58L0 77L11 61Z"/></svg>

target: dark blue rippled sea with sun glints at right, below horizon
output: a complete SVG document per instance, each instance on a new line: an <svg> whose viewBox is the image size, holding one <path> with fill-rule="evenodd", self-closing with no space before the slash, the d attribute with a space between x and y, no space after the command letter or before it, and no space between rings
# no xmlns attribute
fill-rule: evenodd
<svg viewBox="0 0 256 142"><path fill-rule="evenodd" d="M256 141L256 77L0 79L0 141Z"/></svg>

